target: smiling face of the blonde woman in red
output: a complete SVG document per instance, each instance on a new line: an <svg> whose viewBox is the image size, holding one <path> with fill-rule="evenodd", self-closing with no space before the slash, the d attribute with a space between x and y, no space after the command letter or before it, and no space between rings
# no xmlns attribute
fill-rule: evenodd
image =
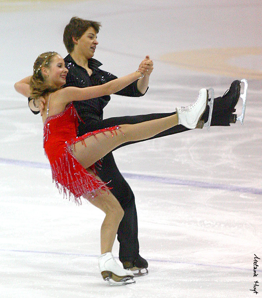
<svg viewBox="0 0 262 298"><path fill-rule="evenodd" d="M55 87L61 87L66 83L68 69L65 67L64 60L60 55L53 57L48 71L48 81Z"/></svg>

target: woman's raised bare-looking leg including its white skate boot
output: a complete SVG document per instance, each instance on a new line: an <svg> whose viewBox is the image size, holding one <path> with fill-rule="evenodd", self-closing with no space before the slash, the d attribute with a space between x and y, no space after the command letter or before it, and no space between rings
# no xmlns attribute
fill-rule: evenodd
<svg viewBox="0 0 262 298"><path fill-rule="evenodd" d="M207 100L207 89L201 89L198 99L188 107L177 109L176 114L137 124L123 124L120 131L89 136L72 146L73 153L87 168L123 143L149 139L178 124L195 128L206 109Z"/></svg>

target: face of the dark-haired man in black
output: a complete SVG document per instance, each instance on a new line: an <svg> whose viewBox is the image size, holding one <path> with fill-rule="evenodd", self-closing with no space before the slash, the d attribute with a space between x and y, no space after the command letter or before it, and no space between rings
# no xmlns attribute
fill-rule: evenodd
<svg viewBox="0 0 262 298"><path fill-rule="evenodd" d="M75 47L78 47L78 53L84 55L86 59L90 59L94 56L97 45L97 33L93 27L89 27L77 40Z"/></svg>

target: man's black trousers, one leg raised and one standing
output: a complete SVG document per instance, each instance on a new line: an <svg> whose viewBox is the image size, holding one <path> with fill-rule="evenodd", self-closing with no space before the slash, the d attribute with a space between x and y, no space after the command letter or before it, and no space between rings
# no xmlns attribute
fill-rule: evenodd
<svg viewBox="0 0 262 298"><path fill-rule="evenodd" d="M212 113L212 126L228 126L229 115L228 107L224 106L221 97L215 99L213 113ZM202 119L207 121L209 109L204 113ZM135 124L153 119L163 118L175 113L160 113L160 114L148 114L138 116L125 116L114 117L105 120L94 119L91 117L83 117L84 123L79 125L79 136L82 136L88 132L115 126L121 124ZM188 131L182 125L177 125L170 128L157 136L151 138L156 139L159 137L169 136L181 132ZM138 141L142 142L142 141ZM125 143L120 147L127 146L137 142ZM120 261L133 261L139 254L139 242L138 242L138 223L137 223L137 211L135 205L135 196L130 186L119 172L115 163L112 152L108 153L103 158L102 167L98 168L99 177L105 181L111 181L108 186L112 187L111 192L119 201L124 210L124 217L119 225L117 231L117 239L119 241L119 259Z"/></svg>

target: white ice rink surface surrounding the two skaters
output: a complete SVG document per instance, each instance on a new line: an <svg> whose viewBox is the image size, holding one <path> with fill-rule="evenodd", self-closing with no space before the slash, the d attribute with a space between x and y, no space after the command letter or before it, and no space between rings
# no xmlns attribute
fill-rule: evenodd
<svg viewBox="0 0 262 298"><path fill-rule="evenodd" d="M262 297L261 0L0 0L0 7L0 298ZM13 88L40 53L67 55L63 29L75 15L102 22L94 56L101 69L121 76L147 54L154 60L147 94L112 95L105 118L171 112L202 87L217 97L234 79L248 80L243 126L114 152L136 196L140 254L149 262L135 285L106 286L98 269L104 214L59 195L42 120Z"/></svg>

